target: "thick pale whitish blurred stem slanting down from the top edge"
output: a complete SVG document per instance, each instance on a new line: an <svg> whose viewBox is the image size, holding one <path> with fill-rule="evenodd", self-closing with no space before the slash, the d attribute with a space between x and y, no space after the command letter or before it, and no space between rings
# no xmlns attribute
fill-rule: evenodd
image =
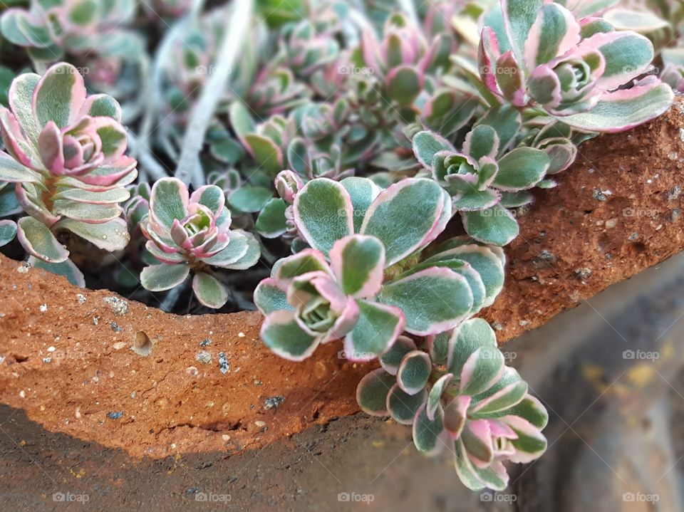
<svg viewBox="0 0 684 512"><path fill-rule="evenodd" d="M240 47L252 26L253 0L236 0L232 9L226 10L227 29L221 48L214 61L214 73L202 88L202 95L192 109L190 122L185 130L183 149L178 160L175 176L185 184L199 187L204 184L199 152L204 145L204 135L212 121L214 111L224 93L232 68L237 63Z"/></svg>

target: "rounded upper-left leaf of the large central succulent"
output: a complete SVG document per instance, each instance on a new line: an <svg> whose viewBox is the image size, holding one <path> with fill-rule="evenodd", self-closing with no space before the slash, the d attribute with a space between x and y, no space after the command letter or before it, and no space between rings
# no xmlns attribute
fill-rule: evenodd
<svg viewBox="0 0 684 512"><path fill-rule="evenodd" d="M294 199L294 221L309 245L327 256L336 241L353 234L351 197L332 179L312 179Z"/></svg>

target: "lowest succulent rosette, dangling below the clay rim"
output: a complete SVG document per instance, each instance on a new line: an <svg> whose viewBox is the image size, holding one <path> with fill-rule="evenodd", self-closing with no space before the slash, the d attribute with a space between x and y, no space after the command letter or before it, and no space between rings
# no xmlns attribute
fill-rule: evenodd
<svg viewBox="0 0 684 512"><path fill-rule="evenodd" d="M452 451L469 489L505 489L504 462L530 462L546 450L546 410L504 364L486 321L466 320L428 338L428 347L399 338L380 357L381 367L359 382L358 404L368 414L413 425L419 451Z"/></svg>

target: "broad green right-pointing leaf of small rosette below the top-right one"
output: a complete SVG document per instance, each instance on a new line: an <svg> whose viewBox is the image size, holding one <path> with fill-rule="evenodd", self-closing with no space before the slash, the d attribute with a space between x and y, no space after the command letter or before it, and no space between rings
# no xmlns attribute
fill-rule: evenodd
<svg viewBox="0 0 684 512"><path fill-rule="evenodd" d="M546 152L534 147L519 147L499 159L499 172L492 184L510 192L531 189L541 181L550 164Z"/></svg>

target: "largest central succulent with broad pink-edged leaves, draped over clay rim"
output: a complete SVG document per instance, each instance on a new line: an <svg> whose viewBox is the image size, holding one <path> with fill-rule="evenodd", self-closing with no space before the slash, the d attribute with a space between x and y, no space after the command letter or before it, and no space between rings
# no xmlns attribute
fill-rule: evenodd
<svg viewBox="0 0 684 512"><path fill-rule="evenodd" d="M450 198L430 179L386 190L361 177L313 179L294 195L293 212L311 249L277 262L254 291L266 315L261 337L283 357L301 360L345 338L351 359L372 359L401 330L453 328L501 289L502 256L486 247L453 239L420 257L451 217Z"/></svg>

